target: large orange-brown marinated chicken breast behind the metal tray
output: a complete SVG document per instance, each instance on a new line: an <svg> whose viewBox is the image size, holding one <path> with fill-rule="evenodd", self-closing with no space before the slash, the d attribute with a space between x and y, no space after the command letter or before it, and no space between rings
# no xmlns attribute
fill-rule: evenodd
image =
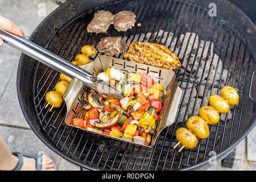
<svg viewBox="0 0 256 182"><path fill-rule="evenodd" d="M177 69L181 66L174 52L163 45L154 43L132 42L128 51L123 53L123 57L136 63L166 69Z"/></svg>

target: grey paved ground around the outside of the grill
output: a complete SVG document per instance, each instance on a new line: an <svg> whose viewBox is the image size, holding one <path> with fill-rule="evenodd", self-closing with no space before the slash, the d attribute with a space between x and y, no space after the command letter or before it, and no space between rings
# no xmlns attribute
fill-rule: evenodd
<svg viewBox="0 0 256 182"><path fill-rule="evenodd" d="M44 15L48 15L56 7L52 0L0 0L0 13L18 24L26 38L44 19ZM16 94L19 57L20 52L9 46L0 48L0 136L12 152L35 154L37 151L45 151L54 160L58 170L79 170L80 168L49 150L25 121ZM224 168L221 163L217 163L209 170L256 170L255 143L256 128L237 146L233 168Z"/></svg>

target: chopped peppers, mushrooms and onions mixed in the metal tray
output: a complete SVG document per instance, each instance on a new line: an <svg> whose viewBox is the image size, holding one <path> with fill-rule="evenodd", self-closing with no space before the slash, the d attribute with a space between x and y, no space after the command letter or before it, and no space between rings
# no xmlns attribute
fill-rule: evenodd
<svg viewBox="0 0 256 182"><path fill-rule="evenodd" d="M108 68L97 77L114 83L123 98L102 100L90 90L84 95L85 114L73 119L73 125L139 144L150 144L163 106L163 85L155 83L146 73L123 74L115 68Z"/></svg>

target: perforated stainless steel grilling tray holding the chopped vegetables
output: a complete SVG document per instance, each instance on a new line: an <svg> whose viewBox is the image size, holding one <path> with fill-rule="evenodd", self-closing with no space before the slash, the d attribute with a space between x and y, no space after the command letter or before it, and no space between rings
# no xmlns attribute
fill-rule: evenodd
<svg viewBox="0 0 256 182"><path fill-rule="evenodd" d="M137 73L137 72L144 72L148 75L152 76L155 82L159 82L163 85L164 89L167 91L166 99L163 103L163 108L160 111L160 120L158 128L156 129L156 134L151 139L150 145L142 145L134 142L130 142L128 140L122 138L111 137L109 135L96 133L93 131L89 131L86 129L82 129L77 127L81 130L85 130L91 133L96 133L99 135L103 135L105 137L110 137L113 139L122 140L125 142L138 144L146 147L152 147L155 144L155 139L158 137L159 133L167 126L172 125L175 121L175 116L177 112L177 108L179 107L179 102L181 98L181 89L177 86L175 82L175 73L172 70L152 67L150 65L134 63L132 61L117 59L114 57L108 56L100 56L97 57L93 62L82 65L81 68L85 69L86 71L92 73L93 75L97 76L100 72L105 72L106 69L109 67L117 68L120 71L129 72L129 73ZM83 117L85 115L85 111L82 110L82 106L84 105L83 97L84 93L86 92L86 88L84 88L84 84L77 80L73 79L65 94L64 100L67 105L67 114L65 117L65 123L69 126L73 126L72 119L77 118L79 116ZM80 113L81 112L81 113ZM73 126L76 127L76 126Z"/></svg>

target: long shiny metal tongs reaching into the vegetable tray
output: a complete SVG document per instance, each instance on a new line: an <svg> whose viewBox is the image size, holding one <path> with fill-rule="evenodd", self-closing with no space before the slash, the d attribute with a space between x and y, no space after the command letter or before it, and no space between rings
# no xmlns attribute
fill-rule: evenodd
<svg viewBox="0 0 256 182"><path fill-rule="evenodd" d="M114 86L110 85L84 69L77 67L69 61L63 59L60 56L32 43L30 40L22 38L20 36L11 34L0 28L0 38L9 46L25 53L26 55L46 64L48 67L55 69L58 72L63 73L71 78L77 78L84 82L85 86L98 92L103 98L122 98L121 92L115 89Z"/></svg>

